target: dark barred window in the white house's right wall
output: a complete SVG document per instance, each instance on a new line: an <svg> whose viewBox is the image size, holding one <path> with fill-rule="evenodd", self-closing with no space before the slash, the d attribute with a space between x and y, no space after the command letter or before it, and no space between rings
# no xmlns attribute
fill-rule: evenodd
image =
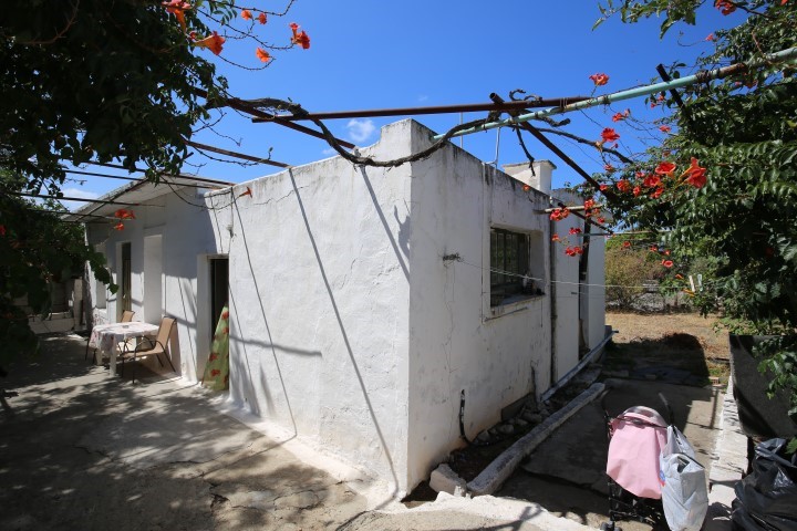
<svg viewBox="0 0 797 531"><path fill-rule="evenodd" d="M531 235L528 233L490 230L490 306L542 294L539 282L528 278L541 277L535 271L538 268L531 268L529 263L532 258L531 242ZM540 257L541 253L535 258Z"/></svg>

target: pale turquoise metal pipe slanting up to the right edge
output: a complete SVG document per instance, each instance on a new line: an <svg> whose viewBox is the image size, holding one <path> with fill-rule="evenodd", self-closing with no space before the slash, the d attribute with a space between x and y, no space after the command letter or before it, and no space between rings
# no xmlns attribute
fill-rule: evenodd
<svg viewBox="0 0 797 531"><path fill-rule="evenodd" d="M607 94L599 97L591 97L589 100L584 100L582 102L576 102L570 105L565 105L563 107L553 107L553 108L547 108L544 111L537 111L535 113L528 113L524 114L517 117L509 117L505 119L499 119L496 122L490 122L487 124L483 124L476 127L469 127L467 129L458 131L454 133L452 136L462 136L462 135L470 135L473 133L479 133L482 131L488 131L488 129L495 129L496 127L504 127L506 125L517 125L522 124L526 122L529 122L531 119L541 118L544 116L551 116L555 114L563 114L569 113L572 111L580 111L582 108L589 108L589 107L596 107L598 105L609 105L610 103L614 102L621 102L623 100L631 100L633 97L640 97L640 96L646 96L650 94L654 94L656 92L664 92L672 88L681 88L689 85L694 85L695 83L705 83L712 80L720 80L723 77L727 77L728 75L733 75L738 72L743 72L749 67L756 67L762 64L766 63L777 63L783 61L788 61L791 59L797 58L797 48L789 48L787 50L783 50L777 53L772 53L767 55L766 58L758 60L758 61L751 61L749 64L745 63L736 63L732 64L731 66L724 66L722 69L715 69L715 70L704 70L701 72L697 72L694 75L687 75L685 77L681 77L677 80L672 81L665 81L662 83L655 83L652 85L645 85L645 86L639 86L636 88L629 88L627 91L620 91L612 94ZM443 138L444 135L436 135L433 136L432 139L438 140Z"/></svg>

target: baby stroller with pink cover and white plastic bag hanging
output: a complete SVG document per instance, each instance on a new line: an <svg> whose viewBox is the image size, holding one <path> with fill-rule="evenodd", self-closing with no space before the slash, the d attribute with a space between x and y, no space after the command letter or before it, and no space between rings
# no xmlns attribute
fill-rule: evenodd
<svg viewBox="0 0 797 531"><path fill-rule="evenodd" d="M697 530L705 518L705 470L675 428L666 398L659 396L669 421L645 406L630 407L611 417L603 394L610 521L601 530L619 531L617 520L638 520L653 529Z"/></svg>

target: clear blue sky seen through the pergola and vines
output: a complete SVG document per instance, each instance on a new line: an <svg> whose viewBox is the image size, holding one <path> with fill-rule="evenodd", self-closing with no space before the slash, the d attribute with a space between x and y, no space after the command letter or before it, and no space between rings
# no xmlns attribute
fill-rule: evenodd
<svg viewBox="0 0 797 531"><path fill-rule="evenodd" d="M275 10L279 10L275 6L281 6L273 0L246 3L268 3ZM605 94L649 83L659 63L681 60L691 64L700 53L711 51L706 35L723 24L737 23L741 14L723 17L708 2L698 11L696 27L676 25L663 40L659 39L658 19L622 24L614 18L593 31L599 17L593 0L299 0L286 17L271 18L265 27L256 24L256 30L266 40L280 44L290 35L288 24L297 22L311 38L310 50L278 52L272 64L261 71L225 62L218 62L218 69L238 97L290 98L311 112L483 103L489 101L491 92L508 98L509 91L516 88L542 97L590 95L596 88L589 75L599 72L608 74L610 82L598 87L596 94ZM257 67L261 63L253 49L251 42L229 41L222 55ZM210 56L206 50L197 53ZM661 133L655 128L641 133L612 124L610 116L625 108L645 121L663 116L661 110L651 111L642 100L633 100L612 110L571 113L568 117L572 124L567 131L597 139L603 127L617 125L620 147L625 153L642 149L644 142L658 142ZM468 113L464 119L483 116ZM379 139L381 126L402 118L339 119L327 124L339 137L368 146ZM459 115L416 119L442 133L456 125ZM275 160L291 165L331 156L323 140L276 124L251 124L236 113L228 113L215 129L195 139L256 156L266 156L272 148ZM464 147L483 160L493 160L496 137L496 131L470 135L465 137ZM593 149L552 139L588 173L602 170L603 163ZM525 160L511 131L501 132L499 146L499 165ZM534 138L527 138L527 146L536 158L557 165L556 186L580 181ZM186 173L236 183L276 169L220 164L200 155L193 156L190 163L200 166L187 165ZM83 184L66 183L64 195L97 196L118 185L118 180L90 177Z"/></svg>

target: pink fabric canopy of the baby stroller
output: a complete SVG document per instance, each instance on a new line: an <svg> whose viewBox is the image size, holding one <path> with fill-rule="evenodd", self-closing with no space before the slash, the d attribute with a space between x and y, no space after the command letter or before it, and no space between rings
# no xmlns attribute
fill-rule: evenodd
<svg viewBox="0 0 797 531"><path fill-rule="evenodd" d="M659 455L666 444L666 421L655 409L634 406L611 420L607 473L641 498L661 499Z"/></svg>

